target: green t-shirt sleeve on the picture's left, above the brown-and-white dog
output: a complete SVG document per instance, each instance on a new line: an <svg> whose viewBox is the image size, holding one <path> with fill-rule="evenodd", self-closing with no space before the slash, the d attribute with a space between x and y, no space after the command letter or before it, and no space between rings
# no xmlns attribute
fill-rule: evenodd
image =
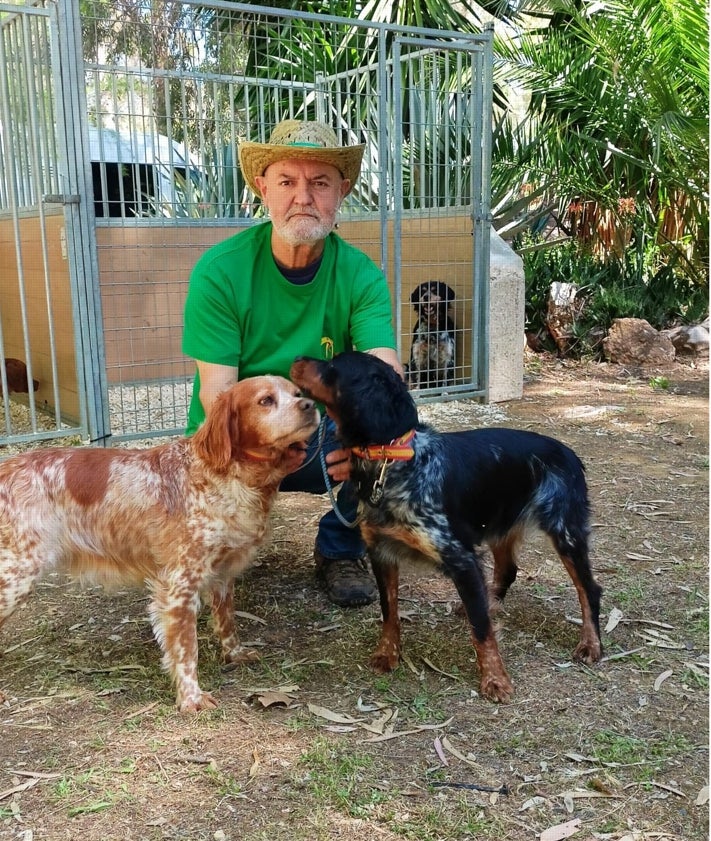
<svg viewBox="0 0 711 841"><path fill-rule="evenodd" d="M209 260L198 261L190 275L182 347L201 362L239 367L242 331L231 283Z"/></svg>

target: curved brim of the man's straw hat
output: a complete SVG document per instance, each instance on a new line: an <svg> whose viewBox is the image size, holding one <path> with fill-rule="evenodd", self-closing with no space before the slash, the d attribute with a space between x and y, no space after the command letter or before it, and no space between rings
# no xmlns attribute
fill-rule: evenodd
<svg viewBox="0 0 711 841"><path fill-rule="evenodd" d="M355 187L360 175L365 145L361 146L299 146L297 144L278 145L273 143L253 143L245 141L238 148L239 164L244 180L259 198L262 194L256 179L268 166L277 161L319 161L335 166L341 175L350 181L348 193ZM346 195L348 195L346 193Z"/></svg>

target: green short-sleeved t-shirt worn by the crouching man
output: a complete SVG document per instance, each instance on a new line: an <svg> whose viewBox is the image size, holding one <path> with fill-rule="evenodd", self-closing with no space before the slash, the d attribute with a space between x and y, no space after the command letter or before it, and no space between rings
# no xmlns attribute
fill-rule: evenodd
<svg viewBox="0 0 711 841"><path fill-rule="evenodd" d="M190 276L183 353L239 368L240 379L289 376L296 356L329 359L344 350L395 348L383 273L335 233L312 281L295 284L277 268L272 225L255 225L203 254ZM195 376L187 433L205 419Z"/></svg>

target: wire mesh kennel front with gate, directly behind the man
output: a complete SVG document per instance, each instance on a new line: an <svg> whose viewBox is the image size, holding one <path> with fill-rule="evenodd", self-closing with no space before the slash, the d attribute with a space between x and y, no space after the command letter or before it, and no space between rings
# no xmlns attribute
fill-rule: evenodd
<svg viewBox="0 0 711 841"><path fill-rule="evenodd" d="M95 330L113 438L184 427L194 371L180 349L190 270L206 248L262 220L237 150L266 141L287 118L321 120L341 143L365 144L339 233L388 276L403 362L423 317L415 290L433 280L450 289L452 357L446 376L417 383L420 399L483 394L488 35L220 0L94 4L78 20L82 55L70 58L83 75L85 120L66 133L86 156L77 192L93 210ZM0 125L0 137L25 128L17 116ZM0 230L12 204L7 184L5 174Z"/></svg>

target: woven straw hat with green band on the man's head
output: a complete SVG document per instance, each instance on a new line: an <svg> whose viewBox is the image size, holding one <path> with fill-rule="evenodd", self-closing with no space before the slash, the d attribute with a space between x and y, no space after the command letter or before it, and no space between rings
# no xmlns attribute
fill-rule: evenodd
<svg viewBox="0 0 711 841"><path fill-rule="evenodd" d="M268 143L245 141L239 145L239 163L244 179L261 198L255 178L276 161L320 161L335 166L355 186L365 146L341 146L336 133L325 123L282 120Z"/></svg>

